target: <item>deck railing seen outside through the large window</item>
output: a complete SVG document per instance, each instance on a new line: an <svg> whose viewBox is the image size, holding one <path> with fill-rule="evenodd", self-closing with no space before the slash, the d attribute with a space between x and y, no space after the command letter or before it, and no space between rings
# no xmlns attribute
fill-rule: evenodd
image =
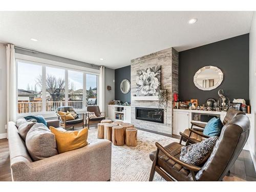
<svg viewBox="0 0 256 192"><path fill-rule="evenodd" d="M83 109L83 101L68 101L69 106L74 109ZM46 101L46 111L56 111L59 106L65 106L65 101ZM18 113L38 113L42 112L41 101L21 102L18 101Z"/></svg>

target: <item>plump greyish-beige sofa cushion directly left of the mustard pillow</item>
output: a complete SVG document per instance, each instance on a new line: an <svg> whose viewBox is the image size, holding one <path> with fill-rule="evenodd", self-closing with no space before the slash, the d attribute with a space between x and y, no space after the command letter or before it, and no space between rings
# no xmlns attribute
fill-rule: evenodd
<svg viewBox="0 0 256 192"><path fill-rule="evenodd" d="M26 137L26 146L34 161L58 154L54 134L42 123L31 127Z"/></svg>

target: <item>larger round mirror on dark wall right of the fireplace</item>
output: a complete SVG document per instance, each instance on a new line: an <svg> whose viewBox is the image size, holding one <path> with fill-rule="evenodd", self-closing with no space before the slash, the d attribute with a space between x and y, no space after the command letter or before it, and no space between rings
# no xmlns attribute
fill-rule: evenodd
<svg viewBox="0 0 256 192"><path fill-rule="evenodd" d="M198 89L209 91L220 86L223 80L222 71L214 66L205 66L194 76L194 83Z"/></svg>

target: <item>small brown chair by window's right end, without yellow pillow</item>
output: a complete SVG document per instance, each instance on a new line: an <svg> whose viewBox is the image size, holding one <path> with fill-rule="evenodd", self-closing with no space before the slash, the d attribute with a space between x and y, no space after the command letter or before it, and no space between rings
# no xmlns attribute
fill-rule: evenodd
<svg viewBox="0 0 256 192"><path fill-rule="evenodd" d="M97 117L89 117L89 112L94 112ZM87 106L86 126L88 123L88 129L90 127L90 124L99 123L103 119L105 119L105 112L100 112L99 106Z"/></svg>

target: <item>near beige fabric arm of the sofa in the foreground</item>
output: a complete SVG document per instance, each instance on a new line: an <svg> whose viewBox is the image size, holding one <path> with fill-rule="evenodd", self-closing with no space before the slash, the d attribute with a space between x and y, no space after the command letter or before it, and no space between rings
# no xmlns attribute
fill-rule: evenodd
<svg viewBox="0 0 256 192"><path fill-rule="evenodd" d="M111 177L108 140L88 144L35 162L12 164L14 181L107 181ZM86 162L86 163L84 163Z"/></svg>

